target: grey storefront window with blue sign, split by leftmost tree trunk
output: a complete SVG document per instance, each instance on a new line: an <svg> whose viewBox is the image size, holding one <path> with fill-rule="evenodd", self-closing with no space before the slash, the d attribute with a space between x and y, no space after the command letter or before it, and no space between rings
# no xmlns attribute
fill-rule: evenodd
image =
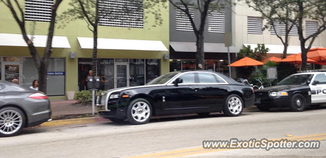
<svg viewBox="0 0 326 158"><path fill-rule="evenodd" d="M33 80L38 80L38 72L33 58L22 60L22 86L30 87ZM47 95L65 95L65 75L65 59L50 58L47 70Z"/></svg>

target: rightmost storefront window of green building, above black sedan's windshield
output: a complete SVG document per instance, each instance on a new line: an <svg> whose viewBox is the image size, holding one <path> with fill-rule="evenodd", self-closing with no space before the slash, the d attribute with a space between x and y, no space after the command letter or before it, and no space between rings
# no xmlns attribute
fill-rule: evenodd
<svg viewBox="0 0 326 158"><path fill-rule="evenodd" d="M160 60L146 59L146 83L160 75Z"/></svg>

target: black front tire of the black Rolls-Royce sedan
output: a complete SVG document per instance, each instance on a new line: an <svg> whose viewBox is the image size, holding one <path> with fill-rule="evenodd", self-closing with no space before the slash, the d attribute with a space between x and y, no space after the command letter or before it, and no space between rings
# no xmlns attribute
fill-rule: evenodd
<svg viewBox="0 0 326 158"><path fill-rule="evenodd" d="M135 114L135 110L132 109L132 107L138 107L138 103L141 104L141 106L143 105L145 107L145 104L147 104L148 106L146 106L144 109L139 109L139 113L137 114L138 116L143 114L144 113L144 116L141 116L141 117L137 117L137 116L132 116L132 114ZM146 112L145 114L145 110L148 111L149 110L149 113ZM149 101L147 101L146 99L143 99L143 98L138 98L138 99L134 99L130 102L128 108L127 108L127 119L128 121L131 123L131 124L135 124L135 125L139 125L139 124L146 124L149 122L149 120L151 119L152 117L152 106L151 104L149 103ZM143 120L137 120L137 119L141 119L141 118L144 118Z"/></svg>

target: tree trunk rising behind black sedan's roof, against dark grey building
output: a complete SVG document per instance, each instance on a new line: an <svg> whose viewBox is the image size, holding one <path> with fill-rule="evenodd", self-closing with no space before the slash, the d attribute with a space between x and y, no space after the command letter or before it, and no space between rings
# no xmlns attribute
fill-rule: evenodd
<svg viewBox="0 0 326 158"><path fill-rule="evenodd" d="M197 46L197 52L196 52L196 69L197 70L203 70L205 69L205 52L204 52L204 36L203 32L199 33L199 35L196 36L196 46Z"/></svg>

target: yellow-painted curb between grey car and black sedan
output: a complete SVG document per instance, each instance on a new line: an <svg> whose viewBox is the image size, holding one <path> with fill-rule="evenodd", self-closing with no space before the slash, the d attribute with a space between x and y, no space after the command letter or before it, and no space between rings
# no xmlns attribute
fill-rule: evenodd
<svg viewBox="0 0 326 158"><path fill-rule="evenodd" d="M90 123L90 122L100 122L106 121L107 119L102 117L87 117L87 118L76 118L76 119L65 119L65 120L53 120L49 122L44 122L40 124L41 127L48 127L48 126L61 126L61 125L68 125L68 124L82 124L82 123Z"/></svg>

